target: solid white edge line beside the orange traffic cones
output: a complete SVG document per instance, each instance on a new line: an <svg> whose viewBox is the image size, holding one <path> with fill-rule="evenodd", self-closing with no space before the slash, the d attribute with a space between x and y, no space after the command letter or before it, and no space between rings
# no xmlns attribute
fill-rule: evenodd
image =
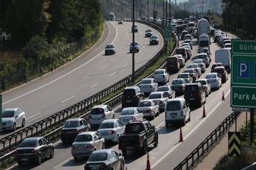
<svg viewBox="0 0 256 170"><path fill-rule="evenodd" d="M226 95L228 95L230 93L230 89L227 92ZM210 115L212 115L212 113L219 107L219 105L222 103L222 101L219 101L219 103L212 109L212 111L207 115L208 117ZM204 121L208 118L206 117L205 119L203 119L199 124L197 124L196 127L194 127L194 129L192 129L192 131L190 131L184 138L183 140L185 140L186 138L188 138L194 131L196 131L196 129L202 124L204 123ZM161 157L160 159L158 159L152 166L151 168L153 169L155 166L157 166L158 163L160 163L164 158L166 158L169 154L171 154L172 151L174 151L174 149L176 149L179 145L181 144L181 142L177 143L176 145L174 145L174 147L172 147L168 152L166 152L165 155L163 155L163 157Z"/></svg>

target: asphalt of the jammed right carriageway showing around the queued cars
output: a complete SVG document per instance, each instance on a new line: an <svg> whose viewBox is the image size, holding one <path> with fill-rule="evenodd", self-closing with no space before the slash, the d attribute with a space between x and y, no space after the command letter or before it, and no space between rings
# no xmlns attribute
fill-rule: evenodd
<svg viewBox="0 0 256 170"><path fill-rule="evenodd" d="M230 38L236 38L233 35L228 34L228 36ZM194 47L191 60L193 60L193 56L196 56L197 53L196 39L193 39L193 42ZM216 49L219 49L219 46L212 41L210 48L212 52L211 64L213 64L215 61L214 52ZM191 60L186 63L186 66ZM181 69L180 72L182 72L182 70L183 69ZM201 78L204 78L208 72L210 72L210 67L208 67L207 71L201 75ZM168 84L171 84L171 80L176 77L177 73L170 75L170 82ZM222 92L224 92L226 100L222 100ZM212 94L207 97L205 103L207 117L202 118L202 107L191 107L190 109L191 121L182 127L183 142L179 142L179 126L165 127L164 113L151 121L151 123L157 127L159 134L158 147L149 147L151 169L173 169L232 112L230 107L230 74L229 80L222 84L222 87L219 90L213 90ZM114 110L115 116L119 117L121 105L115 107ZM18 165L14 165L9 169L83 169L87 159L80 158L78 161L75 161L72 157L70 146L71 144L62 144L61 141L58 141L55 143L55 157L45 160L42 165L26 165L22 168L18 167ZM116 144L108 143L106 148L113 148L116 151L121 152L118 150ZM127 169L146 168L146 155L141 156L133 154L132 152L128 152L127 154L128 155L125 158Z"/></svg>

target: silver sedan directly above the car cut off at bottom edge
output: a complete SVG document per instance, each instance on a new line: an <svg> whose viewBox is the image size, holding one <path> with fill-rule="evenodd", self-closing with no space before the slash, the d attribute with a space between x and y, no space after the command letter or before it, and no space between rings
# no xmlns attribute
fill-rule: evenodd
<svg viewBox="0 0 256 170"><path fill-rule="evenodd" d="M83 132L77 135L71 146L75 160L78 157L89 157L93 151L105 148L105 140L98 132Z"/></svg>

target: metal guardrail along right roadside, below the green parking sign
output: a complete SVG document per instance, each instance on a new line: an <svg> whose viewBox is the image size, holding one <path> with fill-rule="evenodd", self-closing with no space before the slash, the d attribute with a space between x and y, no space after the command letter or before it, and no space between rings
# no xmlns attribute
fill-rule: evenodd
<svg viewBox="0 0 256 170"><path fill-rule="evenodd" d="M174 170L193 169L204 155L210 151L215 144L221 140L225 132L236 121L236 117L241 112L232 112L221 124L200 143L194 151L192 151L183 161L177 165Z"/></svg>

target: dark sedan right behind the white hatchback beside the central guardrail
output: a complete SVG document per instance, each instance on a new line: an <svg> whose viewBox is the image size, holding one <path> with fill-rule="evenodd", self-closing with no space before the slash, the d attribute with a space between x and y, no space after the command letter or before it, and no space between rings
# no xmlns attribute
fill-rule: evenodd
<svg viewBox="0 0 256 170"><path fill-rule="evenodd" d="M60 139L63 143L67 141L73 142L78 134L85 131L91 131L91 126L84 118L70 118L66 120L62 127Z"/></svg>

